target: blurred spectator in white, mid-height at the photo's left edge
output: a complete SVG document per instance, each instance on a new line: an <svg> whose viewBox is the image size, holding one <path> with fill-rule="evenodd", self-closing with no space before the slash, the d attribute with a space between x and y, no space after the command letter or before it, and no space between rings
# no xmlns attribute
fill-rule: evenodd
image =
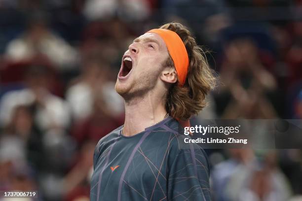
<svg viewBox="0 0 302 201"><path fill-rule="evenodd" d="M3 95L0 101L1 125L7 125L11 121L12 111L16 106L34 104L35 120L43 131L52 128L66 129L69 126L69 106L47 90L48 73L44 66L32 66L26 75L26 88Z"/></svg>

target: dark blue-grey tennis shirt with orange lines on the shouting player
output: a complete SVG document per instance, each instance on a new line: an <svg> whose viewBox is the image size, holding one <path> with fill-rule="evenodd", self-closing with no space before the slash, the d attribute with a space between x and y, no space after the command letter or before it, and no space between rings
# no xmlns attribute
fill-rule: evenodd
<svg viewBox="0 0 302 201"><path fill-rule="evenodd" d="M180 146L172 117L124 136L122 126L97 144L91 201L210 201L209 165L198 145Z"/></svg>

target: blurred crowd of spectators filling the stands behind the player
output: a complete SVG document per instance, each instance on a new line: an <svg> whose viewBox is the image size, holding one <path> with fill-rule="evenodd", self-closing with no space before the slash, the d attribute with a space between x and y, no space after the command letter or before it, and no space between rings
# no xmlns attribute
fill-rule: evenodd
<svg viewBox="0 0 302 201"><path fill-rule="evenodd" d="M301 0L0 0L0 191L88 201L121 56L170 21L220 76L197 122L302 119ZM302 201L301 149L206 151L215 201Z"/></svg>

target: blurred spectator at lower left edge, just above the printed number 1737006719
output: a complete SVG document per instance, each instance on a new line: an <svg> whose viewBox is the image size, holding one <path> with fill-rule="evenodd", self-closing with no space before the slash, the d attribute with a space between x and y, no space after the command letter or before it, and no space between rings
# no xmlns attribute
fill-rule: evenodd
<svg viewBox="0 0 302 201"><path fill-rule="evenodd" d="M41 136L30 108L19 106L0 135L0 190L37 190L34 169L41 169L42 161Z"/></svg>

